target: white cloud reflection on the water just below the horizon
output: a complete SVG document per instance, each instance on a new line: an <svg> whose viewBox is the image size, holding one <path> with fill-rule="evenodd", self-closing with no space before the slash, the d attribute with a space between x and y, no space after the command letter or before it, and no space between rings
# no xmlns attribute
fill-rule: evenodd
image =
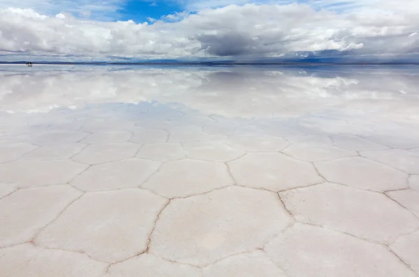
<svg viewBox="0 0 419 277"><path fill-rule="evenodd" d="M48 112L105 103L177 103L223 117L302 115L330 107L372 114L417 114L418 73L404 69L334 67L78 68L45 66L27 74L0 71L0 111ZM44 71L45 70L45 71ZM28 89L30 84L31 89ZM235 105L231 105L235 103Z"/></svg>

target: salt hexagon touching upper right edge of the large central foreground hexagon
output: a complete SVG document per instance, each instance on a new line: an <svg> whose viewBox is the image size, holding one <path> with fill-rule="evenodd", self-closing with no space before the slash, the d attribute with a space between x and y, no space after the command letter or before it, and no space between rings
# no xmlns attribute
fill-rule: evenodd
<svg viewBox="0 0 419 277"><path fill-rule="evenodd" d="M279 153L250 153L228 163L237 184L268 190L287 190L323 180L310 163Z"/></svg>

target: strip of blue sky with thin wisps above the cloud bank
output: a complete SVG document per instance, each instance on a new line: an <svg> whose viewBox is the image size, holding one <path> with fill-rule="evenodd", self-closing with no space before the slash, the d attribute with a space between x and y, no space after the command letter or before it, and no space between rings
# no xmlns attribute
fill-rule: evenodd
<svg viewBox="0 0 419 277"><path fill-rule="evenodd" d="M134 20L145 22L173 13L195 13L205 8L220 8L229 5L308 4L314 9L326 8L344 12L359 6L363 0L0 0L1 8L31 8L45 15L72 13L75 17L91 20ZM375 0L365 0L375 1Z"/></svg>

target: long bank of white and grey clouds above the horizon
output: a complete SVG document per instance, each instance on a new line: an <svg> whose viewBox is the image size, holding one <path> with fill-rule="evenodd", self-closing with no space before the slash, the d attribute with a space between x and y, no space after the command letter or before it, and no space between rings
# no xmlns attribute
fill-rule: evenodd
<svg viewBox="0 0 419 277"><path fill-rule="evenodd" d="M372 0L373 4L362 7L357 1L361 3L351 2L356 13L304 3L245 4L178 13L152 24L81 20L66 13L50 16L8 8L0 11L0 54L66 59L257 59L325 50L393 56L419 52L419 5L413 0L404 5Z"/></svg>

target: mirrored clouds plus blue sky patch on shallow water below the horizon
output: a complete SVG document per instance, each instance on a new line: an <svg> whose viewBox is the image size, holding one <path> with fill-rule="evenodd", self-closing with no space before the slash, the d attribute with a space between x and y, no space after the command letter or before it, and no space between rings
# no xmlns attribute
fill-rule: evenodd
<svg viewBox="0 0 419 277"><path fill-rule="evenodd" d="M282 137L378 132L412 140L418 75L415 66L1 66L1 128L226 121Z"/></svg>

